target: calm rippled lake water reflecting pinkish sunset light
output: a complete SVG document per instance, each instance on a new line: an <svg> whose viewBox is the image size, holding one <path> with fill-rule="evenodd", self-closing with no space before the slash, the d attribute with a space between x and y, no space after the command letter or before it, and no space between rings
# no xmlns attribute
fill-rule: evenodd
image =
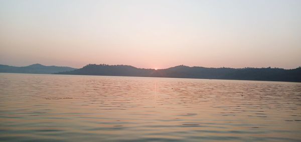
<svg viewBox="0 0 301 142"><path fill-rule="evenodd" d="M301 83L0 73L0 141L301 141Z"/></svg>

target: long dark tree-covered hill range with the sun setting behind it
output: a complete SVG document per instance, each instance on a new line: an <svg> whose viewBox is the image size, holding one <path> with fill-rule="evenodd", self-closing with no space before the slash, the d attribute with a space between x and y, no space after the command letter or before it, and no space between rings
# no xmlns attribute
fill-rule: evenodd
<svg viewBox="0 0 301 142"><path fill-rule="evenodd" d="M145 76L145 77L176 77L205 79L235 79L235 80L267 80L301 82L301 67L295 69L283 68L208 68L200 66L179 65L166 69L136 68L130 65L88 64L72 71L57 74L81 75L112 75L112 76Z"/></svg>

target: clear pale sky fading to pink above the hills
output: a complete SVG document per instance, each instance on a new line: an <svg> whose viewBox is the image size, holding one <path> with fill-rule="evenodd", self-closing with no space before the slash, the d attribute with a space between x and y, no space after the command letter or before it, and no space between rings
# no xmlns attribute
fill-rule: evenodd
<svg viewBox="0 0 301 142"><path fill-rule="evenodd" d="M0 64L301 66L301 0L0 0Z"/></svg>

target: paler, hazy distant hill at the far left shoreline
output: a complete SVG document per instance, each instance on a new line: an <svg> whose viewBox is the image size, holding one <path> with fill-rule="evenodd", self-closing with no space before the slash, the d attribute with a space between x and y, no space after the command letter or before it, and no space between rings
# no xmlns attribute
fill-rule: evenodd
<svg viewBox="0 0 301 142"><path fill-rule="evenodd" d="M54 65L46 66L39 63L21 67L0 64L0 72L10 73L56 73L63 71L71 71L74 69L76 68Z"/></svg>

